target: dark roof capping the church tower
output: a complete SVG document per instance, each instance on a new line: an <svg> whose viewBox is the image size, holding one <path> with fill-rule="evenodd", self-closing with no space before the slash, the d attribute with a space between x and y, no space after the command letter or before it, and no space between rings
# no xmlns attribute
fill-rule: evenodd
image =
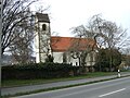
<svg viewBox="0 0 130 98"><path fill-rule="evenodd" d="M43 13L36 13L38 22L47 22L50 23L49 15Z"/></svg>

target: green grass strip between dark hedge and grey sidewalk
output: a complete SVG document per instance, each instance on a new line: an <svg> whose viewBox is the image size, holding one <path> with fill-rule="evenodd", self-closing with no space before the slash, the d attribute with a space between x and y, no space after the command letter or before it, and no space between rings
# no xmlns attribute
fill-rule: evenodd
<svg viewBox="0 0 130 98"><path fill-rule="evenodd" d="M115 75L115 74L117 74L117 72L94 72L94 73L87 73L86 75L69 76L69 77L62 77L62 78L49 78L49 79L5 79L5 81L1 82L1 85L2 85L2 87L12 87L12 86L23 86L23 85L54 83L54 82L62 82L62 81L73 81L73 79L80 79L80 78L92 78L92 77L108 76L108 75Z"/></svg>

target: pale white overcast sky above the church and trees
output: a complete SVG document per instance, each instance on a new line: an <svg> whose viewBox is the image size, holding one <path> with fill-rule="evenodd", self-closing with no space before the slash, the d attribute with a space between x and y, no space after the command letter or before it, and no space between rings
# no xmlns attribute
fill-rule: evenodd
<svg viewBox="0 0 130 98"><path fill-rule="evenodd" d="M73 36L69 28L86 25L95 14L130 32L130 0L40 0L35 7L40 4L50 5L51 32L58 36Z"/></svg>

